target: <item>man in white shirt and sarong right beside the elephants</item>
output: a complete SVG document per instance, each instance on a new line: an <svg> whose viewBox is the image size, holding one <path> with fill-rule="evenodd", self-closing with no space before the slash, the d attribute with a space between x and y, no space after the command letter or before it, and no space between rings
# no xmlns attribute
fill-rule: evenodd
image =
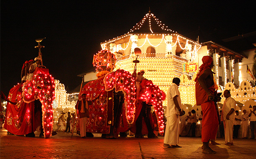
<svg viewBox="0 0 256 159"><path fill-rule="evenodd" d="M183 115L181 111L181 99L178 86L180 85L179 78L172 79L172 85L167 92L167 109L166 109L166 129L164 138L164 147L181 147L178 146L180 135L180 116Z"/></svg>

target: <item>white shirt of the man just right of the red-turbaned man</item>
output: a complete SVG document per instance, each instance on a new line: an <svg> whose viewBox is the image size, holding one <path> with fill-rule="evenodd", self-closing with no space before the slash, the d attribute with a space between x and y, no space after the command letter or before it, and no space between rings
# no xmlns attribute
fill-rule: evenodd
<svg viewBox="0 0 256 159"><path fill-rule="evenodd" d="M224 101L224 104L222 107L223 121L227 120L227 118L226 118L227 114L230 112L231 109L235 110L235 107L236 107L236 102L232 97L228 97ZM230 114L229 118L230 118L230 120L235 121L235 111L232 114Z"/></svg>

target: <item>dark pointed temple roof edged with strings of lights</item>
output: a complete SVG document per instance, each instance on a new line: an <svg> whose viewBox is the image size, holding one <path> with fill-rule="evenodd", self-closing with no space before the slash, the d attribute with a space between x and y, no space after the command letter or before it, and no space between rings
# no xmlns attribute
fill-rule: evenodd
<svg viewBox="0 0 256 159"><path fill-rule="evenodd" d="M149 10L144 18L141 19L128 33L177 33L165 26Z"/></svg>

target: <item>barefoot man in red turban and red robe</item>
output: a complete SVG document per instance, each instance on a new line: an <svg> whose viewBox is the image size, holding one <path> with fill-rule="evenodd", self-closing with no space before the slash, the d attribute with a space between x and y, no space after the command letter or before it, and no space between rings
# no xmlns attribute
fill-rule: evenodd
<svg viewBox="0 0 256 159"><path fill-rule="evenodd" d="M196 76L196 105L201 105L203 111L202 120L202 142L203 153L216 154L209 147L209 140L216 138L218 130L218 116L214 104L214 96L217 94L217 85L214 83L212 72L213 59L211 56L202 58L203 64L199 67L199 73Z"/></svg>

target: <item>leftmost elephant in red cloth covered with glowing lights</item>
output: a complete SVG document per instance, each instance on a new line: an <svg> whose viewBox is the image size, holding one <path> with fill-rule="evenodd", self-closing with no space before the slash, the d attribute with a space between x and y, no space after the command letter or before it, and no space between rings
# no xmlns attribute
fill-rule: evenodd
<svg viewBox="0 0 256 159"><path fill-rule="evenodd" d="M49 70L37 67L34 77L22 85L14 86L8 99L4 128L15 135L34 136L41 129L40 137L50 138L53 128L52 102L55 98L55 82Z"/></svg>

